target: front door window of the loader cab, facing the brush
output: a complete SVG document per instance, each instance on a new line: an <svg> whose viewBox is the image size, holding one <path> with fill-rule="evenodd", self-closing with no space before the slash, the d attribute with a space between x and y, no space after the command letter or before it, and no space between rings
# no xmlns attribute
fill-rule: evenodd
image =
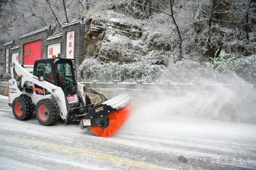
<svg viewBox="0 0 256 170"><path fill-rule="evenodd" d="M56 72L58 83L65 94L75 94L76 85L71 62L57 62Z"/></svg>

